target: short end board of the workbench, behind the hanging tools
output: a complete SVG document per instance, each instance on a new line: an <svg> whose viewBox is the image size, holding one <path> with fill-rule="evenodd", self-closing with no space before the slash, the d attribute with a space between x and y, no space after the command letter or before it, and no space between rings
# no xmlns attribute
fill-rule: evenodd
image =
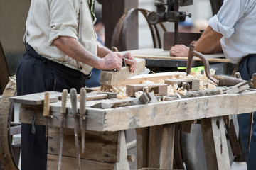
<svg viewBox="0 0 256 170"><path fill-rule="evenodd" d="M71 115L71 106L68 105L67 117L65 118L65 128L74 127L74 119ZM23 105L21 104L19 110L19 121L21 123L32 123L33 114L36 115L36 125L46 125L46 118L43 117L43 105ZM86 108L87 119L83 124L85 130L103 131L105 111L102 109ZM48 125L60 127L60 106L50 106L50 118L48 119ZM81 124L81 119L79 124ZM80 128L80 127L79 127Z"/></svg>

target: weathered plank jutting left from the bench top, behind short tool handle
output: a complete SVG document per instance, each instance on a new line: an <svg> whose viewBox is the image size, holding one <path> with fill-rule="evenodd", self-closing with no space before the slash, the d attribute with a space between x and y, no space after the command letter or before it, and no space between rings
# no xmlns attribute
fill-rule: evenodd
<svg viewBox="0 0 256 170"><path fill-rule="evenodd" d="M61 96L61 93L58 91L49 91L50 103L58 101L58 98ZM44 93L37 94L27 94L23 96L15 96L10 98L11 102L27 104L27 105L41 105L44 100Z"/></svg>

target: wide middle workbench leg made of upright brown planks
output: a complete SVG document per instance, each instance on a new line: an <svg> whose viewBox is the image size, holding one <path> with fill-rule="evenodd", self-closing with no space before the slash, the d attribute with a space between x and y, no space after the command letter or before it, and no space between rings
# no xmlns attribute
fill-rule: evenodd
<svg viewBox="0 0 256 170"><path fill-rule="evenodd" d="M137 128L137 169L173 169L174 125Z"/></svg>

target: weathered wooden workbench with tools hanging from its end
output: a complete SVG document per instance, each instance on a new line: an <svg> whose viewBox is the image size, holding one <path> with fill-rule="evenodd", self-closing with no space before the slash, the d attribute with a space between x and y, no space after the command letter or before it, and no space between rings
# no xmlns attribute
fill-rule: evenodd
<svg viewBox="0 0 256 170"><path fill-rule="evenodd" d="M56 96L60 94L56 92ZM32 97L29 97L33 101ZM36 124L45 125L42 105L31 105L16 97L21 103L21 123L32 123L33 114ZM117 99L115 99L117 100ZM103 100L113 102L114 100ZM250 113L256 111L256 91L247 90L242 94L221 94L196 98L181 98L174 101L149 103L146 105L119 108L90 108L102 101L87 101L88 118L85 120L85 154L81 154L82 167L87 169L129 169L124 130L135 128L137 131L137 169L172 169L174 157L174 123L186 120L201 120L204 147L208 169L230 169L228 147L225 137L223 115ZM65 143L72 143L73 118L68 104L68 118L65 122ZM50 103L50 125L48 140L48 169L56 169L58 161L58 127L60 127L60 102ZM81 120L80 120L81 121ZM150 127L150 128L147 128ZM97 132L93 132L97 131ZM95 135L96 134L96 135ZM70 140L72 138L72 140ZM89 141L88 139L92 139ZM70 140L71 142L68 142ZM105 141L105 142L104 142ZM106 142L107 141L107 142ZM115 142L111 142L115 141ZM63 150L63 167L75 169L75 146L66 145ZM101 155L96 151L99 150ZM93 161L92 161L93 160ZM73 162L73 163L72 163ZM73 164L73 165L72 165ZM90 168L89 168L90 167ZM85 168L86 169L86 168Z"/></svg>

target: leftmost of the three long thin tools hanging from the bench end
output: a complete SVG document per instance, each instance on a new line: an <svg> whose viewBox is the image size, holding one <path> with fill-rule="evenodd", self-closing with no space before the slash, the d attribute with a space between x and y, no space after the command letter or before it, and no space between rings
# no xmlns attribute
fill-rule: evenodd
<svg viewBox="0 0 256 170"><path fill-rule="evenodd" d="M66 114L67 98L68 98L68 90L63 89L62 97L61 97L61 108L60 108L61 121L60 121L59 153L58 153L58 170L60 170L61 168L61 157L63 152L63 127L64 127L65 114Z"/></svg>

